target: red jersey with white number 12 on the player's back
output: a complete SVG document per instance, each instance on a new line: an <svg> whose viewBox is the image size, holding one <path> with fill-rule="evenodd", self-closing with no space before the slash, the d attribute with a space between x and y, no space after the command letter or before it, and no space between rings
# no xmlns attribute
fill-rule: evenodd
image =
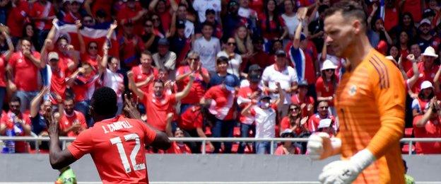
<svg viewBox="0 0 441 184"><path fill-rule="evenodd" d="M76 159L90 153L103 183L148 183L144 147L155 135L144 122L117 116L81 132L68 149Z"/></svg>

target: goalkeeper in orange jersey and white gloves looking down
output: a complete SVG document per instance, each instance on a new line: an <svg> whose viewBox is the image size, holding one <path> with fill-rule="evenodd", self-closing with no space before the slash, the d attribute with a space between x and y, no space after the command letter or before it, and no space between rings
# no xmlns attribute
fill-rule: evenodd
<svg viewBox="0 0 441 184"><path fill-rule="evenodd" d="M346 73L336 90L337 139L313 134L310 159L341 154L323 168L322 183L404 183L399 139L404 129L404 79L394 63L370 46L366 16L354 1L325 13L326 42L345 58Z"/></svg>

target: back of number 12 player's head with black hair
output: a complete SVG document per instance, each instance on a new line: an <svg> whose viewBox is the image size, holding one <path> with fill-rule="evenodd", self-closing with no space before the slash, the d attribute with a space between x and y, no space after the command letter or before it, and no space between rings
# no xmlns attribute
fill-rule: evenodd
<svg viewBox="0 0 441 184"><path fill-rule="evenodd" d="M97 115L114 116L117 113L117 93L112 88L98 88L92 96L90 105Z"/></svg>

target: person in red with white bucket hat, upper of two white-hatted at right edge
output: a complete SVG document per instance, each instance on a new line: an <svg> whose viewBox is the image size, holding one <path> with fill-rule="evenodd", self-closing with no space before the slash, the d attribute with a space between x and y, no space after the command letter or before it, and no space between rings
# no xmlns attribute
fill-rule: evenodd
<svg viewBox="0 0 441 184"><path fill-rule="evenodd" d="M438 57L438 55L435 54L433 47L427 47L422 55L423 62L418 63L418 71L420 72L420 76L412 88L413 93L419 93L421 91L420 86L423 81L434 81L435 74L440 68L435 64L435 59ZM413 70L407 71L407 76L408 78L413 76Z"/></svg>

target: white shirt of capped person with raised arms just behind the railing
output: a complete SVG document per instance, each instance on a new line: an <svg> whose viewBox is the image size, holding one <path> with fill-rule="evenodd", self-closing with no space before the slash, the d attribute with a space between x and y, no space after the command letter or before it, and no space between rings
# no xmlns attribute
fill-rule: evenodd
<svg viewBox="0 0 441 184"><path fill-rule="evenodd" d="M273 106L273 105L271 105ZM256 138L273 138L276 137L276 113L273 108L262 109L257 105L251 110L256 122Z"/></svg>

